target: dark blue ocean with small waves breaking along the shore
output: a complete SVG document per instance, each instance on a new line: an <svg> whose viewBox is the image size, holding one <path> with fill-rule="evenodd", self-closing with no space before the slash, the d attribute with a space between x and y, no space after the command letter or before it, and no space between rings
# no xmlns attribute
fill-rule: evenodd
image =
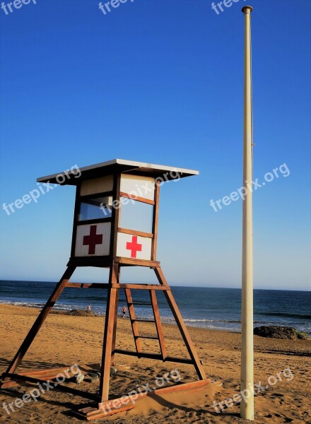
<svg viewBox="0 0 311 424"><path fill-rule="evenodd" d="M56 283L40 281L0 281L0 305L42 307ZM203 288L171 286L184 322L206 329L240 331L241 290L237 288ZM107 290L66 288L56 310L84 309L90 303L96 314L105 313ZM145 290L133 290L136 302L148 302ZM157 293L163 322L174 322L163 293ZM120 290L119 311L126 305ZM1 306L0 306L1 307ZM151 306L136 306L136 317L149 319ZM311 335L311 292L289 290L254 290L254 326L293 326Z"/></svg>

